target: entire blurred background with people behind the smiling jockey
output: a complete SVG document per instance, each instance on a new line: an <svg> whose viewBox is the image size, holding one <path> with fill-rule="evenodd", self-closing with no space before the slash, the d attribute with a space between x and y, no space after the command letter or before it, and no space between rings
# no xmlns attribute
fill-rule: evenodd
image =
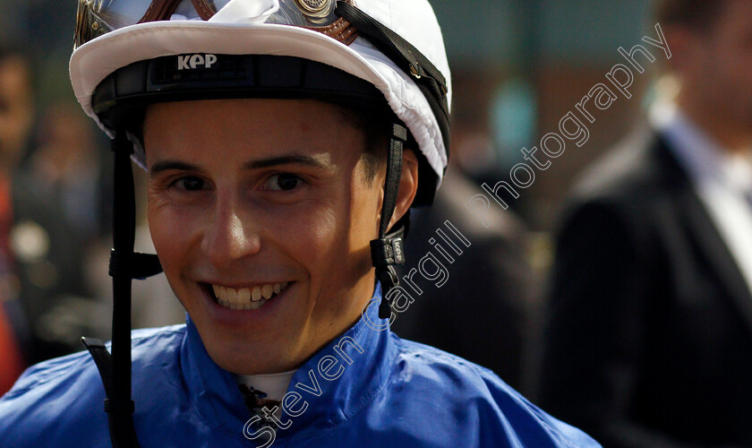
<svg viewBox="0 0 752 448"><path fill-rule="evenodd" d="M414 210L401 275L412 275L406 290L416 300L393 329L490 367L604 446L752 445L752 2L431 3L452 69L450 168L434 206ZM672 68L689 80L684 97L662 75L671 68L663 51L642 40L658 38L659 3L676 39ZM68 78L76 2L4 1L2 10L0 394L25 366L80 350L81 335L109 338L112 220L108 142ZM608 84L611 67L629 65L619 48L637 45L655 61L635 56L646 71L632 70L631 98L617 91L605 110L591 102L592 123L578 114L587 142L568 140L560 157L539 152L551 166L535 169L519 197L500 196L502 210L489 189L518 163L532 164L521 150L560 133L562 117ZM702 107L689 120L666 118L660 105L679 97L679 109ZM715 144L731 134L732 145ZM685 156L666 150L667 135ZM573 207L583 173L628 137L628 158L585 176L595 205L580 197ZM726 202L708 203L707 173L678 168L677 159L724 146L743 148L699 164L723 171L725 163L731 178L713 190ZM144 175L135 173L143 202ZM634 194L635 179L652 188ZM483 221L467 207L479 194L489 205ZM736 208L723 216L718 203ZM136 249L151 253L142 203L138 210ZM643 228L662 238L628 239ZM423 272L427 254L446 283ZM184 322L163 275L134 282L132 314L134 327Z"/></svg>

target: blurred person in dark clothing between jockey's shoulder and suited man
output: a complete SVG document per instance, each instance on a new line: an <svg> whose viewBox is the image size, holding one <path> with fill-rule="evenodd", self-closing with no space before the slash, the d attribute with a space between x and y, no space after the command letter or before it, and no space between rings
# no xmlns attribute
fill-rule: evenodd
<svg viewBox="0 0 752 448"><path fill-rule="evenodd" d="M526 252L526 227L514 213L490 209L485 215L490 224L486 228L467 211L467 199L481 193L463 172L449 169L432 207L413 211L411 227L420 231L406 237L409 258L397 269L400 277L432 253L448 272L448 280L436 288L434 282L414 275L418 288L427 289L428 294L415 297L391 328L400 337L488 367L520 390L527 335L538 312L537 273ZM447 246L434 233L438 228L449 232L444 224L447 220L471 243L470 247L459 246L463 254L445 247L453 263L442 258L431 243Z"/></svg>

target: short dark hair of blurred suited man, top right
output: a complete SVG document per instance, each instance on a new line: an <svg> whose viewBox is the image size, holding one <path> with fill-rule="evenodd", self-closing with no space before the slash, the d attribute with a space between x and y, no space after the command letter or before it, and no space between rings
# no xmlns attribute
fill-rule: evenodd
<svg viewBox="0 0 752 448"><path fill-rule="evenodd" d="M708 30L726 6L726 0L657 0L655 19L661 24Z"/></svg>

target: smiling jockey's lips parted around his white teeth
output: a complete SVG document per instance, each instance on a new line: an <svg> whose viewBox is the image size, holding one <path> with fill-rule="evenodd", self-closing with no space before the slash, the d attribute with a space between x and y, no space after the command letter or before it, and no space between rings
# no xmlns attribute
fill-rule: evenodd
<svg viewBox="0 0 752 448"><path fill-rule="evenodd" d="M281 283L278 282L278 283ZM287 300L290 295L290 290L295 288L296 282L289 281L287 288L282 290L278 295L269 299L269 302L261 306L258 309L230 309L225 306L221 306L214 298L213 292L211 292L211 285L221 285L227 288L249 288L249 286L227 286L223 283L206 283L200 282L201 293L204 297L204 303L209 314L209 319L212 323L223 327L249 327L260 326L264 323L269 323L276 314L279 313L280 304ZM254 283L255 286L265 285L268 283ZM252 288L252 286L250 287Z"/></svg>

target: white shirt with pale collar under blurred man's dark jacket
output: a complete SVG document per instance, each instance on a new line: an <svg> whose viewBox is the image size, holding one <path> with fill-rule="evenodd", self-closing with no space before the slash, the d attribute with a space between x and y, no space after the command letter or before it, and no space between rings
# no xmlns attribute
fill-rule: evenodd
<svg viewBox="0 0 752 448"><path fill-rule="evenodd" d="M650 111L752 292L752 150L726 151L673 104Z"/></svg>

